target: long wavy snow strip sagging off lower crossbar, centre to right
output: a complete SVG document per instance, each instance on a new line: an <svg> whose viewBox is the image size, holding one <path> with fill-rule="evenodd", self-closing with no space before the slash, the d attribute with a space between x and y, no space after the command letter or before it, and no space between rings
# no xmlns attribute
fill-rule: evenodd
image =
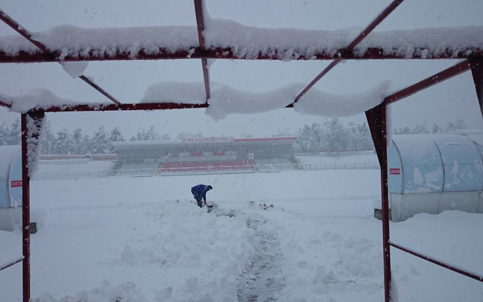
<svg viewBox="0 0 483 302"><path fill-rule="evenodd" d="M311 88L297 103L296 112L324 117L351 116L379 105L386 95L389 81L382 82L369 91L353 95L335 95ZM214 120L228 114L253 114L284 108L291 104L305 88L298 83L267 92L246 92L221 83L211 83L211 97L206 114ZM150 85L141 103L174 102L202 104L205 102L203 83L163 82Z"/></svg>

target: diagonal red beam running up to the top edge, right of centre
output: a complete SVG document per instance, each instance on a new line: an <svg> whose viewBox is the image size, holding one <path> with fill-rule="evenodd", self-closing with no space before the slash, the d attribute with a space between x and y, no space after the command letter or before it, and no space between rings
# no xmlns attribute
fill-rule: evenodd
<svg viewBox="0 0 483 302"><path fill-rule="evenodd" d="M351 44L349 44L349 46L347 46L347 50L348 51L353 51L354 48L357 46L357 44L359 44L365 37L367 37L367 35L369 35L369 33L379 24L382 22L382 20L384 20L393 10L395 10L395 8L397 6L399 6L399 4L401 4L403 2L403 0L393 0L391 2L391 4L389 4L389 6L384 10L382 11L377 17L376 19L374 19L352 42ZM338 58L336 60L334 60L331 64L329 64L329 66L327 66L324 70L322 70L322 72L320 72L317 77L315 77L315 79L313 79L308 85L307 87L305 87L296 97L295 97L295 100L293 101L294 103L297 102L298 100L300 100L301 97L303 97L303 95L305 93L307 93L307 91L312 88L312 86L315 85L315 83L318 82L318 80L320 80L322 77L324 77L324 75L326 75L332 68L334 68L340 61L342 60L342 58Z"/></svg>

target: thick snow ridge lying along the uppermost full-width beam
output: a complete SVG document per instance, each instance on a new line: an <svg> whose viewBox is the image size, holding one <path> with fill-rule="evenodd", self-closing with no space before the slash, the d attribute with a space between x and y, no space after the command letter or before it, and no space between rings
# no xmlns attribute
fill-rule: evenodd
<svg viewBox="0 0 483 302"><path fill-rule="evenodd" d="M279 60L316 59L318 56L342 56L341 52L361 28L334 31L293 28L257 28L231 20L206 18L203 31L206 51L217 57ZM196 26L159 26L87 29L72 25L52 27L34 33L33 39L49 51L65 58L113 57L127 59L185 51L187 57L199 49ZM384 55L421 58L469 56L483 50L483 26L441 27L414 30L372 32L354 50L362 57L368 49L382 49ZM221 51L224 49L224 51ZM38 49L21 36L0 37L0 52L10 56L20 52L34 54Z"/></svg>

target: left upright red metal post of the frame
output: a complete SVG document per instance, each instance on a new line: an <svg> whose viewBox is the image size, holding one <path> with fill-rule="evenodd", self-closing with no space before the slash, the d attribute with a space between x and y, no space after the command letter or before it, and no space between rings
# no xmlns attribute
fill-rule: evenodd
<svg viewBox="0 0 483 302"><path fill-rule="evenodd" d="M22 287L23 301L30 301L30 176L27 168L27 114L21 116L22 129Z"/></svg>

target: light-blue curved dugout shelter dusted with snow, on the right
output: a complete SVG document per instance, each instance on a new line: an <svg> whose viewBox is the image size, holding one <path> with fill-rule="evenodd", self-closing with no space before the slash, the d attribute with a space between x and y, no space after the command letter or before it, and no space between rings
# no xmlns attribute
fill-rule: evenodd
<svg viewBox="0 0 483 302"><path fill-rule="evenodd" d="M387 169L392 221L445 210L483 213L483 131L393 135Z"/></svg>

